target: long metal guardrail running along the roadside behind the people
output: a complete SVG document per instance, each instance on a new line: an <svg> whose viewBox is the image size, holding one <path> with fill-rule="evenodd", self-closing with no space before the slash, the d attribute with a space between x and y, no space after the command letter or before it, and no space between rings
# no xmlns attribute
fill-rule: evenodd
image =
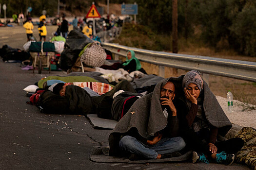
<svg viewBox="0 0 256 170"><path fill-rule="evenodd" d="M161 77L164 67L170 67L256 82L255 62L142 50L112 43L102 43L102 47L120 56L126 56L128 50L135 51L140 61L158 65Z"/></svg>

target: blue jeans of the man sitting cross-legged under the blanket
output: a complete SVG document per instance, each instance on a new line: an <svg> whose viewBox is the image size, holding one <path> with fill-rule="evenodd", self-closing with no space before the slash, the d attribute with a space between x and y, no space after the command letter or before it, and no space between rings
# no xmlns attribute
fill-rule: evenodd
<svg viewBox="0 0 256 170"><path fill-rule="evenodd" d="M123 136L119 147L129 153L135 153L146 159L156 159L158 154L173 153L185 147L182 137L163 138L155 145L145 145L132 136Z"/></svg>

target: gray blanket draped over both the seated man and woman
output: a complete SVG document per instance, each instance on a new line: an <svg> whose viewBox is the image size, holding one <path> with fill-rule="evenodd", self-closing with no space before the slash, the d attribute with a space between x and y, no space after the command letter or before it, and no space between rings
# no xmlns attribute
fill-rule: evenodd
<svg viewBox="0 0 256 170"><path fill-rule="evenodd" d="M164 117L161 104L159 102L160 88L165 85L166 82L172 81L175 84L175 92L177 98L183 97L184 93L182 89L182 78L184 75L177 78L167 78L160 81L154 92L145 95L138 99L126 115L120 119L117 126L109 136L109 155L118 155L119 140L122 135L130 130L136 129L138 134L144 138L154 135L156 132L164 129L167 124L167 119ZM218 128L218 133L221 136L225 134L232 127L231 122L223 112L221 106L217 102L215 95L211 92L209 86L204 82L204 102L203 109L205 111L206 119L208 122ZM186 107L184 105L184 107ZM177 113L178 117L187 113Z"/></svg>

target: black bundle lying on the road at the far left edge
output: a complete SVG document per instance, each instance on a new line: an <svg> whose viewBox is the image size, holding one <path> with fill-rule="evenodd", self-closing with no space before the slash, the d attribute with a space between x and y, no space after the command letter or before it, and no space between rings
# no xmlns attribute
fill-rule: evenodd
<svg viewBox="0 0 256 170"><path fill-rule="evenodd" d="M8 45L2 46L0 56L4 62L22 62L30 58L30 54L20 49L13 49Z"/></svg>

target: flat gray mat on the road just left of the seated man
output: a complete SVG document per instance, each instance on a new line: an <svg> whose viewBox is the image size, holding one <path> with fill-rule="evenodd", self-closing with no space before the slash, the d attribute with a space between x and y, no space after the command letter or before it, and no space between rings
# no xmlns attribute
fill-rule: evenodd
<svg viewBox="0 0 256 170"><path fill-rule="evenodd" d="M95 114L86 115L95 129L114 129L118 121L98 118Z"/></svg>

